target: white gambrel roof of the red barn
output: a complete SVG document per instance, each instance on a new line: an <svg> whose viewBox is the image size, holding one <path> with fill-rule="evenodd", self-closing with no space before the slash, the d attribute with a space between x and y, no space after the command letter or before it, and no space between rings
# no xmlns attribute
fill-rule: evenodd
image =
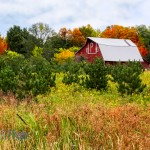
<svg viewBox="0 0 150 150"><path fill-rule="evenodd" d="M99 45L105 61L142 61L137 46L128 39L88 37Z"/></svg>

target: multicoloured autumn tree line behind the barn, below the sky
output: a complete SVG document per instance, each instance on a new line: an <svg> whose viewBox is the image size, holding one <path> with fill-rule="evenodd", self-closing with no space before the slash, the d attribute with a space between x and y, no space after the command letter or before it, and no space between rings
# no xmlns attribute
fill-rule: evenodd
<svg viewBox="0 0 150 150"><path fill-rule="evenodd" d="M91 25L74 29L61 28L55 32L48 24L35 23L29 28L14 25L7 31L6 38L0 36L0 54L11 50L24 55L41 55L48 61L61 61L73 57L86 42L86 37L130 39L139 48L144 59L150 62L150 26L124 27L111 25L104 31Z"/></svg>

